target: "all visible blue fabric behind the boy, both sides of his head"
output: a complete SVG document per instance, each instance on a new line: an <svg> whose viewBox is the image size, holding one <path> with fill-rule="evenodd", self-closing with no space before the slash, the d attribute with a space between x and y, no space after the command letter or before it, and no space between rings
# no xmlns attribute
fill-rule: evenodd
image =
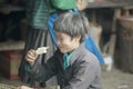
<svg viewBox="0 0 133 89"><path fill-rule="evenodd" d="M72 9L72 10L68 10L68 11L72 11L75 13L79 13L78 9ZM58 47L57 43L57 39L55 39L55 34L54 34L54 30L53 30L53 22L55 21L55 19L59 17L58 13L53 13L49 17L49 32L52 37L52 40L54 42L54 44ZM103 57L100 53L100 51L98 50L93 39L91 38L91 36L85 40L85 47L89 51L91 51L94 56L98 57L98 60L100 61L100 65L104 63Z"/></svg>

